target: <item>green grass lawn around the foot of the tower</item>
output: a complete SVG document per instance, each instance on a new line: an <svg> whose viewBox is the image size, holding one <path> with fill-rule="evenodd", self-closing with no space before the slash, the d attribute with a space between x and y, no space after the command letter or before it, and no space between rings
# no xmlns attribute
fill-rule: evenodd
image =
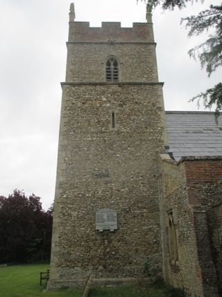
<svg viewBox="0 0 222 297"><path fill-rule="evenodd" d="M40 286L40 272L49 269L49 264L26 264L0 266L1 297L82 297L81 289L45 291L46 281ZM161 286L160 286L161 287ZM135 287L92 287L89 297L160 297L162 289L151 289L149 292L136 285Z"/></svg>

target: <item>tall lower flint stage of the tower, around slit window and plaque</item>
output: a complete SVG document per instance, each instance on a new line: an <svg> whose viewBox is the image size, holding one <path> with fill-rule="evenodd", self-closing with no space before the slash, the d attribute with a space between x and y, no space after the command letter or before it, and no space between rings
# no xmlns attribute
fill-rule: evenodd
<svg viewBox="0 0 222 297"><path fill-rule="evenodd" d="M162 275L161 89L63 86L49 288L79 284L88 273L144 277L145 263ZM110 131L110 110L117 113L117 131ZM118 230L96 231L96 211L103 208L117 211Z"/></svg>

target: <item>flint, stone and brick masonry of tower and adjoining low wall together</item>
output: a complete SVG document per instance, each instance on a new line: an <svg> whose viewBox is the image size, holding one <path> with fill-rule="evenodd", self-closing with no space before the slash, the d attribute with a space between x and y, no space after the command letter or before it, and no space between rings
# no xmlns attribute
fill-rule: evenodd
<svg viewBox="0 0 222 297"><path fill-rule="evenodd" d="M222 296L222 156L170 152L149 7L132 28L74 17L72 3L48 289L152 276Z"/></svg>

